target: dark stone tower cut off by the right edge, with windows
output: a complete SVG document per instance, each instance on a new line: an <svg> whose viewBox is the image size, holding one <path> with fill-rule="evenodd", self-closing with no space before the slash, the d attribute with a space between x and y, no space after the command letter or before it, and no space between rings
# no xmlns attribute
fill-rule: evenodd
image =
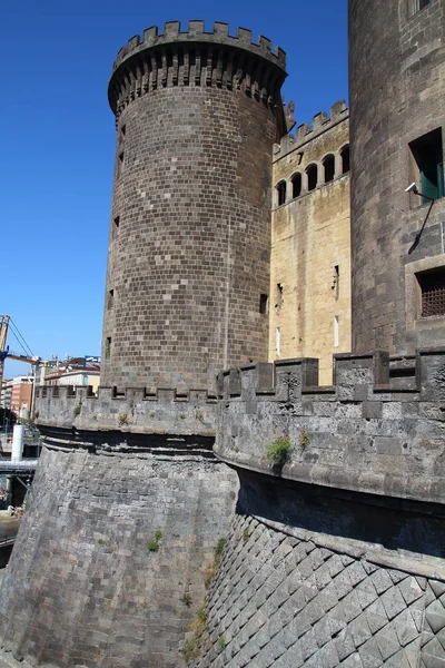
<svg viewBox="0 0 445 668"><path fill-rule="evenodd" d="M349 1L357 353L445 338L444 14L443 0Z"/></svg>

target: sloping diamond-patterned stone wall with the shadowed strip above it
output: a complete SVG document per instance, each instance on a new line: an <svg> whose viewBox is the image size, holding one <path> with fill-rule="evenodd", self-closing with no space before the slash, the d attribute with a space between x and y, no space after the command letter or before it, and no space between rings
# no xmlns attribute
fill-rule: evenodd
<svg viewBox="0 0 445 668"><path fill-rule="evenodd" d="M403 544L377 551L378 531L357 540L358 527L369 525L363 498L324 498L304 487L286 490L241 474L238 513L205 603L202 655L190 666L443 666L444 560L426 564ZM327 505L334 531L320 521ZM387 540L390 511L378 512L375 527L387 524ZM398 531L411 523L403 514ZM425 517L417 548L429 530Z"/></svg>

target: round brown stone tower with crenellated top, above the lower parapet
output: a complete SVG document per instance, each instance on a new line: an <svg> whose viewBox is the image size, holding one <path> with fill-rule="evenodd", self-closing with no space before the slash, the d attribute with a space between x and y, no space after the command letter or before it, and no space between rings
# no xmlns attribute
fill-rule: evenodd
<svg viewBox="0 0 445 668"><path fill-rule="evenodd" d="M284 67L264 37L202 21L119 51L102 385L211 390L220 369L267 358Z"/></svg>

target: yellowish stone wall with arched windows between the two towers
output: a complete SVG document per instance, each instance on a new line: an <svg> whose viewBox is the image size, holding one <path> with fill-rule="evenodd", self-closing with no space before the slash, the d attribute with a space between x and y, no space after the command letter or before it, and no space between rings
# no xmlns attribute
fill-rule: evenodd
<svg viewBox="0 0 445 668"><path fill-rule="evenodd" d="M348 109L337 102L330 118L320 112L312 129L300 126L295 139L286 135L274 153L269 361L318 357L320 384L332 383L333 353L350 351L349 173L343 173L340 155L348 140ZM325 183L327 156L335 171ZM314 190L308 190L309 165L317 167ZM295 178L301 179L298 194ZM283 183L286 202L278 205Z"/></svg>

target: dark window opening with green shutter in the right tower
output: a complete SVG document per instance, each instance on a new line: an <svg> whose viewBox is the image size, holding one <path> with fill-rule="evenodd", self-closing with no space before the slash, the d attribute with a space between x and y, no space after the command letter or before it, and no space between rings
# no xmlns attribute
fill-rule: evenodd
<svg viewBox="0 0 445 668"><path fill-rule="evenodd" d="M428 197L438 199L444 196L444 155L442 147L442 129L437 128L409 144L412 153L413 178L418 189L426 197L422 204L431 202Z"/></svg>

